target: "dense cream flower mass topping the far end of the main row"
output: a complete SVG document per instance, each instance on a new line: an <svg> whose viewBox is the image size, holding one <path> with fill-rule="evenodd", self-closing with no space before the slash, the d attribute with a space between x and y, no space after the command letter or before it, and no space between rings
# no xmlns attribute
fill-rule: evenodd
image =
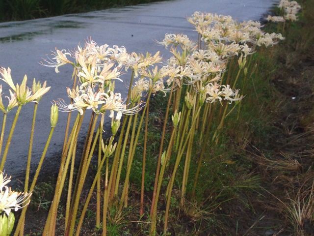
<svg viewBox="0 0 314 236"><path fill-rule="evenodd" d="M266 47L276 44L281 38L280 34L269 38L269 35L262 32L260 22L244 21L239 23L233 20L231 16L195 12L188 18L188 21L195 26L195 30L201 35L205 47L223 54L225 57L232 57L239 53L245 55L253 53L256 46L263 45L261 44L263 39L258 44L259 39L263 37L272 39L271 44L264 45Z"/></svg>

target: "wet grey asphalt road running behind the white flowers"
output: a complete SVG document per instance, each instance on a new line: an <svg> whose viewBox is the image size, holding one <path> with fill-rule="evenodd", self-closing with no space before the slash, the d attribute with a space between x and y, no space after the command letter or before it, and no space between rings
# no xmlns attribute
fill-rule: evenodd
<svg viewBox="0 0 314 236"><path fill-rule="evenodd" d="M15 82L21 82L24 74L27 74L29 86L32 78L47 80L48 86L52 86L38 108L32 155L33 170L39 161L50 130L51 101L66 98L65 87L71 87L72 83L71 66L60 67L60 73L56 74L53 68L38 63L42 58L50 56L54 48L72 49L78 43L83 45L86 39L92 37L98 44L125 46L129 52L161 51L167 58L169 54L154 40L163 39L165 33L184 33L196 39L192 26L185 20L194 11L231 15L239 21L260 20L274 2L275 0L170 0L82 14L1 23L0 66L11 68ZM116 90L123 95L126 94L129 78L130 75L126 74L122 78L125 84L116 82ZM5 172L13 178L23 178L25 175L32 111L33 104L23 107L8 153ZM8 115L6 131L10 128L14 114L15 111ZM55 128L44 165L47 173L57 169L66 117L64 113L59 115L59 123ZM86 123L88 118L85 118ZM83 128L87 129L86 125ZM5 137L7 134L8 132ZM45 169L42 172L45 173Z"/></svg>

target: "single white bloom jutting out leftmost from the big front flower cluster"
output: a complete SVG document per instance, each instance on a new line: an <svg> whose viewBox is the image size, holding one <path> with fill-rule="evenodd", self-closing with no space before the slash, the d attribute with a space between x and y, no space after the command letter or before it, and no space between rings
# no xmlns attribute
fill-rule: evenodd
<svg viewBox="0 0 314 236"><path fill-rule="evenodd" d="M58 50L52 52L53 58L44 59L44 61L40 62L44 66L54 67L55 73L59 73L59 67L65 64L75 65L74 62L69 60L67 56L72 57L71 53L67 52L65 49Z"/></svg>

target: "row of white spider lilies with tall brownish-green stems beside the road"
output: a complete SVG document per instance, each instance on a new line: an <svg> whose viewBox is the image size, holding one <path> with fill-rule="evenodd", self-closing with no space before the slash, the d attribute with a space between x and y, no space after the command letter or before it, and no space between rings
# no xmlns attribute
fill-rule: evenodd
<svg viewBox="0 0 314 236"><path fill-rule="evenodd" d="M69 113L65 128L60 169L56 179L52 204L43 229L43 235L55 235L58 207L64 191L66 192L64 235L80 235L88 205L95 192L96 227L102 228L103 236L107 235L107 215L109 214L109 208L115 207L116 217L121 217L123 209L128 206L132 163L135 153L138 151L137 146L141 135L143 135L144 141L139 216L145 213L147 205L145 206L144 203L144 183L149 132L149 111L151 97L155 95L157 91L163 91L165 96L167 96L167 107L162 120L163 126L157 156L154 190L151 196L152 202L149 206L150 235L155 236L157 234L157 209L161 196L165 197L166 203L163 217L163 233L167 232L172 192L176 180L181 182L181 206L185 204L186 199L195 199L199 177L204 164L204 156L206 149L209 147L209 143L210 145L216 145L219 142L219 137L225 127L226 118L230 114L236 111L236 118L238 119L240 116L243 96L238 94L239 90L235 90L235 87L239 87L241 93L244 93L248 81L252 79L254 73L257 73L258 64L252 62L252 57L253 51L258 50L256 45L258 45L262 36L261 33L254 33L254 36L252 36L254 30L248 30L248 28L252 26L250 23L248 27L242 27L243 31L241 31L241 37L243 38L239 38L237 32L237 39L231 42L226 40L228 35L222 35L226 32L223 30L219 31L218 29L220 27L219 24L235 24L230 23L230 17L209 16L200 13L195 13L193 17L194 18L189 21L192 22L192 24L194 23L193 25L198 29L198 42L193 44L186 35L167 34L161 44L166 47L171 45L171 53L174 56L168 60L166 67L162 67L159 70L155 67L153 70L149 70L150 66L160 62L157 54L154 57L146 55L145 58L145 56L137 57L136 55L131 58L130 55L121 53L119 49L120 56L112 56L115 57L114 63L118 63L119 66L123 64L123 66L128 69L131 68L131 81L125 105L122 105L122 103L118 101L118 98L111 96L114 87L114 83L112 83L111 80L117 79L120 72L118 70L107 69L108 67L111 68L113 64L106 62L106 66L108 67L103 65L102 70L100 70L96 59L94 60L93 57L91 57L91 55L95 56L95 54L86 56L85 52L79 48L78 53L72 55L74 58L78 59L78 63L73 64L73 88L68 89L68 95L71 98L70 104L64 105L64 103L57 103L60 110L66 110ZM209 27L212 22L216 21L218 34L217 32L214 33L214 39L211 38L213 35L211 34L212 32L203 28L204 25L202 24L204 22L200 21L202 17L204 18L203 20L208 20L210 17L212 18L207 27ZM216 20L214 20L214 18ZM200 26L202 29L197 28ZM235 34L230 31L230 35ZM234 38L234 36L232 37ZM264 38L266 37L272 37L274 40L279 38L278 35L264 36ZM236 42L236 40L238 41ZM88 44L90 46L93 43L90 42ZM221 44L224 44L224 46L222 47ZM100 48L97 50L98 53L101 52ZM113 51L106 51L105 47L105 51L103 52L115 55ZM57 53L54 54L56 61L49 63L48 66L54 66L56 72L58 72L58 66L72 63L67 59L67 55L70 54L57 51ZM99 57L99 55L97 56ZM83 59L83 57L85 57L85 59ZM102 60L104 60L104 57L101 57ZM134 59L134 61L132 61L132 59ZM145 59L150 61L145 63ZM144 64L144 66L142 64ZM140 66L145 68L144 71L143 69L139 71L138 67ZM110 71L110 73L108 73L108 71ZM115 76L113 76L114 73L116 74ZM135 82L135 85L132 87L132 84L134 84L133 80L138 74L141 78ZM0 151L4 139L6 115L13 107L18 107L1 159L0 171L2 172L22 106L30 101L35 102L25 179L25 193L31 193L36 185L58 119L58 107L56 104L52 105L51 131L36 169L35 176L29 186L30 162L37 107L41 96L43 96L49 88L46 88L46 83L42 86L40 83L36 84L34 81L32 89L29 89L26 87L26 80L23 81L21 85L14 86L9 69L6 70L2 68L1 77L1 79L10 86L13 92L10 90L11 98L9 98L7 108L3 106L2 99L0 102L1 110L4 114L0 134ZM148 80L145 81L144 77L148 78ZM106 80L104 78L109 79ZM164 88L164 78L168 78L166 81L167 89ZM103 79L103 81L99 82L101 79ZM162 81L161 84L160 81ZM85 84L87 84L88 88ZM93 85L91 86L91 84ZM95 86L95 84L97 85ZM98 90L95 92L95 89ZM142 95L142 93L145 95ZM142 100L145 100L145 103L138 99L139 96L143 97ZM112 99L110 100L109 98ZM101 109L98 109L99 105L102 106ZM88 131L86 134L82 134L81 128L83 119L87 116L86 114L89 109L92 110L92 113L88 124ZM142 110L141 113L138 112L140 109ZM79 112L75 118L73 118L74 113L71 111L75 110ZM113 114L110 115L111 137L107 141L103 139L105 111L110 111L111 113L118 112L116 118L113 117ZM125 114L122 123L120 123L121 113ZM169 122L170 117L172 122ZM71 122L73 119L74 122ZM118 129L120 130L119 137L116 136ZM141 132L143 132L143 134L141 134ZM166 134L166 132L170 133ZM80 135L85 135L86 139L81 156L77 158L78 138ZM168 136L170 138L167 141L166 137ZM96 147L98 147L97 153L95 153ZM201 147L200 151L198 150L199 147ZM90 164L94 155L97 155L97 169L95 172L90 173ZM195 176L191 180L189 175L191 159L192 156L195 155L197 158L195 159L194 157L193 161L197 162L197 167L196 170L193 171L195 172ZM148 158L155 157L150 156ZM75 162L78 160L79 167L75 175ZM183 177L182 179L178 179L177 172L181 165L183 166ZM126 167L125 178L122 180L121 174L124 167ZM88 174L92 175L93 181L92 184L88 186L89 191L82 204L81 195ZM166 175L169 176L169 181L163 195L162 185L164 181L166 181ZM67 189L65 187L66 182L68 182ZM186 188L189 182L192 183L193 187L190 193L187 194ZM87 188L87 186L85 186L85 188ZM14 236L24 235L25 216L28 207L26 202L27 201L23 203L24 206Z"/></svg>

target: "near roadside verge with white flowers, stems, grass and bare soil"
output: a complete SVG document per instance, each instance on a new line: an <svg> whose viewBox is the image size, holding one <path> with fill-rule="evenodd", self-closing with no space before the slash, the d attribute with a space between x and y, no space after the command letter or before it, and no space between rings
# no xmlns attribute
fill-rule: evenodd
<svg viewBox="0 0 314 236"><path fill-rule="evenodd" d="M52 105L52 129L35 177L27 167L20 201L2 209L6 232L313 235L314 1L282 0L273 14L262 28L195 12L188 21L199 41L166 34L159 43L173 55L167 60L159 52L128 53L90 40L42 61L56 73L73 65L73 88L66 89L69 101ZM125 102L114 92L124 70L131 70L133 85ZM17 107L17 122L30 101L35 120L50 87L34 81L28 88L26 79L15 86L9 68L0 77L11 90L1 107L2 132L6 114ZM68 112L60 169L56 179L37 183L59 110ZM90 120L87 134L80 132L84 118ZM84 148L77 147L80 136ZM32 138L29 162L31 147ZM8 181L2 182L5 192ZM13 228L12 212L22 206Z"/></svg>

